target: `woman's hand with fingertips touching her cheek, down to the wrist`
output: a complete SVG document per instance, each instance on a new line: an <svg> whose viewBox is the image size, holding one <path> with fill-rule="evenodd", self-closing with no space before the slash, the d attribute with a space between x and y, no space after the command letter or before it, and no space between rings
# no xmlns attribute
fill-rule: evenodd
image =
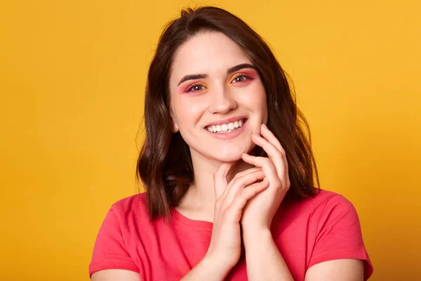
<svg viewBox="0 0 421 281"><path fill-rule="evenodd" d="M267 152L269 158L255 157L246 153L242 158L244 162L253 164L263 171L265 179L269 180L269 188L248 200L241 218L244 231L270 230L272 218L290 188L285 150L265 124L262 124L260 133L262 136L253 133L251 139Z"/></svg>

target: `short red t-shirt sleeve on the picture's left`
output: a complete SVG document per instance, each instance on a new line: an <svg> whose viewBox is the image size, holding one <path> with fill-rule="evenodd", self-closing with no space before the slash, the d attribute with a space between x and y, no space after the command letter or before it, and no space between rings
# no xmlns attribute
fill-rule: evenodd
<svg viewBox="0 0 421 281"><path fill-rule="evenodd" d="M139 273L138 266L128 254L123 240L123 223L116 209L111 207L100 227L89 265L89 277L104 269L125 269Z"/></svg>

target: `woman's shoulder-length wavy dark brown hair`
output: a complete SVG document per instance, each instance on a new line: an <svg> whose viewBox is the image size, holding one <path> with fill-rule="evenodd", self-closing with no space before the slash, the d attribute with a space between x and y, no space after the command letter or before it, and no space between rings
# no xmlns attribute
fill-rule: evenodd
<svg viewBox="0 0 421 281"><path fill-rule="evenodd" d="M152 221L161 216L170 217L171 207L178 206L194 181L189 146L180 132L172 132L168 80L178 47L205 31L222 32L232 39L246 51L258 70L267 94L267 126L279 139L288 158L290 189L284 200L314 196L314 176L318 186L320 183L309 126L296 105L286 73L269 46L246 22L222 8L187 8L163 30L147 76L146 138L140 150L136 178L145 187L149 217ZM307 129L308 138L302 126ZM253 151L254 155L267 157L258 146Z"/></svg>

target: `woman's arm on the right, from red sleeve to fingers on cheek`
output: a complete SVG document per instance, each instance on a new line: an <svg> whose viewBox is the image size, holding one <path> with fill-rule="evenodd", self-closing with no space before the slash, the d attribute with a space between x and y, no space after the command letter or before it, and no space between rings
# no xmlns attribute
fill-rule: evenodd
<svg viewBox="0 0 421 281"><path fill-rule="evenodd" d="M260 145L270 159L243 154L245 162L260 167L269 179L269 188L248 202L241 218L248 278L293 280L269 231L274 212L290 187L288 162L285 150L273 133L264 125L261 133L262 136L253 134L252 141ZM363 245L354 206L338 195L320 206L321 227L317 228L317 243L305 280L367 280L373 273L373 266ZM361 260L368 266L366 276Z"/></svg>

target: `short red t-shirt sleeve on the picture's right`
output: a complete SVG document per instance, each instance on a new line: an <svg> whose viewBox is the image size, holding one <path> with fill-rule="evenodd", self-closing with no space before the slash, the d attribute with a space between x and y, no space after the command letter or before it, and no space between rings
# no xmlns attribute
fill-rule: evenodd
<svg viewBox="0 0 421 281"><path fill-rule="evenodd" d="M321 211L307 268L334 259L361 259L364 263L364 280L373 274L356 209L349 200L338 194L331 197Z"/></svg>

